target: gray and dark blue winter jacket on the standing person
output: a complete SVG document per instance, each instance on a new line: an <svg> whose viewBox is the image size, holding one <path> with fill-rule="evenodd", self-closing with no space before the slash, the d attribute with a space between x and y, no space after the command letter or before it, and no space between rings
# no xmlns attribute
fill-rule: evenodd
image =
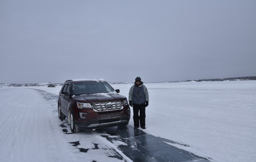
<svg viewBox="0 0 256 162"><path fill-rule="evenodd" d="M147 87L141 84L139 87L131 86L129 91L129 101L133 104L145 104L145 101L149 101Z"/></svg>

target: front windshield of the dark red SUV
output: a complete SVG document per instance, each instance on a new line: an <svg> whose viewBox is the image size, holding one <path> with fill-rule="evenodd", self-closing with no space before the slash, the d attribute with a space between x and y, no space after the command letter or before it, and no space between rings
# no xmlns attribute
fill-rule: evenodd
<svg viewBox="0 0 256 162"><path fill-rule="evenodd" d="M95 93L114 92L113 88L106 82L97 83L79 83L73 84L74 95L86 95Z"/></svg>

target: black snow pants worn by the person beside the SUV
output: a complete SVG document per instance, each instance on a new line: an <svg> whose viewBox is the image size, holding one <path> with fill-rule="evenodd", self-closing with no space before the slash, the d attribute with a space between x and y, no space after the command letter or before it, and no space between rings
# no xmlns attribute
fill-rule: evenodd
<svg viewBox="0 0 256 162"><path fill-rule="evenodd" d="M145 104L133 104L134 127L145 127ZM140 112L140 116L139 116Z"/></svg>

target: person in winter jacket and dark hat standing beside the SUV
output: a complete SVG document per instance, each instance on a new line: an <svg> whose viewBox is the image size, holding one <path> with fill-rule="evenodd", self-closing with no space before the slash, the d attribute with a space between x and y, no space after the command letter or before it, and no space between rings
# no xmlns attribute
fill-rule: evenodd
<svg viewBox="0 0 256 162"><path fill-rule="evenodd" d="M134 130L138 127L146 129L145 127L145 107L148 106L148 90L140 77L135 79L134 85L131 86L129 91L129 105L133 107L134 112ZM140 116L139 116L140 112Z"/></svg>

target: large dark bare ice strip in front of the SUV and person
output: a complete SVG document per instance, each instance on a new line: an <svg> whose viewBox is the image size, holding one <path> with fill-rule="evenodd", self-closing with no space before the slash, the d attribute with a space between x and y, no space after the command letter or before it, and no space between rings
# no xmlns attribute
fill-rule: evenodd
<svg viewBox="0 0 256 162"><path fill-rule="evenodd" d="M99 133L107 133L108 135L102 135L102 137L106 138L112 143L113 141L124 142L126 145L119 145L118 149L134 162L209 161L207 158L191 154L189 151L176 148L168 143L183 145L185 147L189 147L189 145L152 136L151 134L143 132L143 130L134 130L133 127L129 125L126 129L120 127L110 127L96 130L96 132L97 131ZM118 158L118 156L114 157Z"/></svg>

